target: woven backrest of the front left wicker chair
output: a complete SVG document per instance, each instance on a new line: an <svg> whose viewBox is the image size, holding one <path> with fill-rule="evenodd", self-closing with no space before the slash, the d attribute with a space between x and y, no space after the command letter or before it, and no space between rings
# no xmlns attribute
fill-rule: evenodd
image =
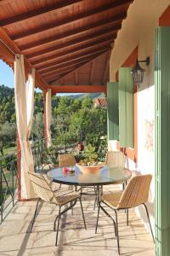
<svg viewBox="0 0 170 256"><path fill-rule="evenodd" d="M47 177L44 177L42 173L35 172L28 172L28 175L31 179L33 189L39 198L49 203L57 203L53 189L51 188Z"/></svg>

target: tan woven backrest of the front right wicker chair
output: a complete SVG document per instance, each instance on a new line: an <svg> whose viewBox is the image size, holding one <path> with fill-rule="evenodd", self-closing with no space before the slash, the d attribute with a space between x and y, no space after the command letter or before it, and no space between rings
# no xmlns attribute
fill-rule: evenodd
<svg viewBox="0 0 170 256"><path fill-rule="evenodd" d="M148 201L151 174L132 177L122 193L117 208L132 208Z"/></svg>

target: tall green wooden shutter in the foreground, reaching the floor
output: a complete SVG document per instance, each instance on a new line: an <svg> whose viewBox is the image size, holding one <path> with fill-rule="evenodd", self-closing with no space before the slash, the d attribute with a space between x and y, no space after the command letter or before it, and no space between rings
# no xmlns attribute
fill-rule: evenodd
<svg viewBox="0 0 170 256"><path fill-rule="evenodd" d="M156 255L170 255L170 27L156 29Z"/></svg>

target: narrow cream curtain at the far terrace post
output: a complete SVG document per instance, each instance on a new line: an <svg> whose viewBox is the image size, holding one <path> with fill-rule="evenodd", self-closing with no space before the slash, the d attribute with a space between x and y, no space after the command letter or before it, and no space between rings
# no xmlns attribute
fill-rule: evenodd
<svg viewBox="0 0 170 256"><path fill-rule="evenodd" d="M47 143L48 148L52 145L51 141L51 89L46 93L46 125L47 125Z"/></svg>

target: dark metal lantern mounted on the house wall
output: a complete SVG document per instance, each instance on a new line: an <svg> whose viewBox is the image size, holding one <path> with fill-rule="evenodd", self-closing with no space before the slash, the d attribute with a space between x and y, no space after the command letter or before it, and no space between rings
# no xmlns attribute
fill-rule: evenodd
<svg viewBox="0 0 170 256"><path fill-rule="evenodd" d="M140 67L139 62L144 62L146 63L146 66L150 65L150 57L147 57L144 61L139 61L137 59L136 61L136 66L133 68L132 73L133 73L133 82L135 84L140 85L141 83L143 83L143 79L144 79L144 68Z"/></svg>

